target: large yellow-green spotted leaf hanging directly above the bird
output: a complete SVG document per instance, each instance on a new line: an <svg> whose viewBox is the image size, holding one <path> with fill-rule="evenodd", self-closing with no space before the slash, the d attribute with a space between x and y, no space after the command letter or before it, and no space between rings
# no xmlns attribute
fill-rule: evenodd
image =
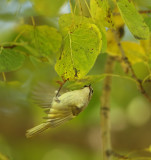
<svg viewBox="0 0 151 160"><path fill-rule="evenodd" d="M83 22L80 17L76 17L76 20L72 19L69 25L66 18L64 16L62 22L67 24L67 27L64 24L61 26L63 27L61 30L64 34L64 46L55 69L59 76L65 79L80 79L94 65L101 51L102 35L95 24Z"/></svg>

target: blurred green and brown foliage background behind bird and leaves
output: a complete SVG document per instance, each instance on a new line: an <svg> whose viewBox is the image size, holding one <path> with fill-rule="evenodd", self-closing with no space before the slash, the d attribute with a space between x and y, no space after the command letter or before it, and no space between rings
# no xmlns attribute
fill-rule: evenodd
<svg viewBox="0 0 151 160"><path fill-rule="evenodd" d="M74 1L72 1L75 4ZM81 1L83 3L83 1ZM134 0L140 9L150 9L150 0ZM84 6L85 7L85 6ZM88 14L86 7L85 14ZM46 24L58 28L58 17L69 13L66 0L0 0L0 44L11 42L15 29L22 23ZM118 20L117 20L118 21ZM135 41L124 26L123 40ZM106 53L98 56L89 74L103 74ZM58 88L58 76L52 64L26 57L23 66L0 74L0 160L98 160L100 159L100 96L102 82L92 85L94 95L87 109L77 118L55 129L49 129L32 139L26 139L27 129L42 122L43 110L32 103L31 91L38 82L49 82ZM133 68L140 78L148 75L143 62ZM136 83L126 76L116 62L111 93L111 135L114 150L121 153L151 156L145 148L151 145L151 105L138 91ZM151 95L151 86L145 84ZM135 150L135 151L134 151ZM134 151L134 152L133 152Z"/></svg>

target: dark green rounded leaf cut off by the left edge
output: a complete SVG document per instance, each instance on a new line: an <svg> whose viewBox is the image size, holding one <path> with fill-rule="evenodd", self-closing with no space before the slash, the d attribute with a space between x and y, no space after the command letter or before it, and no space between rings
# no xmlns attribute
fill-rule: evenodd
<svg viewBox="0 0 151 160"><path fill-rule="evenodd" d="M24 63L24 55L13 49L2 49L0 52L0 72L10 72L19 69Z"/></svg>

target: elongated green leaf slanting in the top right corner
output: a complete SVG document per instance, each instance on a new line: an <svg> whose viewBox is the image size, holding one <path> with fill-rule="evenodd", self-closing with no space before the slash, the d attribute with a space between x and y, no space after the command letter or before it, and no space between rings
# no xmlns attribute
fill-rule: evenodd
<svg viewBox="0 0 151 160"><path fill-rule="evenodd" d="M148 39L149 28L144 23L142 16L137 12L129 0L117 0L117 6L126 25L136 39Z"/></svg>

